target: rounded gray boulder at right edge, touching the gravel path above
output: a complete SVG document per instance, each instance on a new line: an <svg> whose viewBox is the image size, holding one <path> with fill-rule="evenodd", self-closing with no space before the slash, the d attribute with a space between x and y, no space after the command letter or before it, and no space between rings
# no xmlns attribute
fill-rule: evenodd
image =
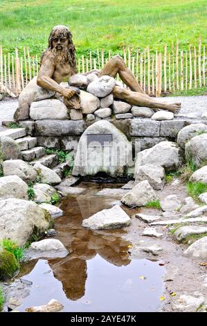
<svg viewBox="0 0 207 326"><path fill-rule="evenodd" d="M177 144L185 148L186 143L199 132L207 132L207 126L204 123L192 123L182 128L177 135Z"/></svg>

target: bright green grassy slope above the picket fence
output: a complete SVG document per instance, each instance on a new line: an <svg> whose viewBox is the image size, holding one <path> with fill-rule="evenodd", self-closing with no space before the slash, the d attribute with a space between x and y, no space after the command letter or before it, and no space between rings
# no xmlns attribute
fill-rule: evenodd
<svg viewBox="0 0 207 326"><path fill-rule="evenodd" d="M66 24L80 55L98 47L162 50L177 38L184 48L206 43L206 0L0 0L0 44L41 53L51 28Z"/></svg>

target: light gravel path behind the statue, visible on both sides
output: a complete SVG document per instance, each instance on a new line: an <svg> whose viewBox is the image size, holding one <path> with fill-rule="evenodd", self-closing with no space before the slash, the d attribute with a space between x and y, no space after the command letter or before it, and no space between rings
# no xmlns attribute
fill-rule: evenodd
<svg viewBox="0 0 207 326"><path fill-rule="evenodd" d="M184 115L189 118L200 118L204 112L207 112L207 96L170 96L159 98L159 101L168 103L181 102L182 108L178 114L180 117ZM0 126L1 121L13 119L17 106L17 99L0 102Z"/></svg>

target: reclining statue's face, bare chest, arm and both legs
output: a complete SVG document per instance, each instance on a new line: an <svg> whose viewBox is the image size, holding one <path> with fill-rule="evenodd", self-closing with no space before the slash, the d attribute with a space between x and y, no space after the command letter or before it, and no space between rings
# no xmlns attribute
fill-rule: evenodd
<svg viewBox="0 0 207 326"><path fill-rule="evenodd" d="M42 65L37 76L37 85L58 92L65 98L71 98L75 92L72 89L66 89L60 85L62 81L69 80L75 74L75 67L69 64L70 56L68 55L66 57L67 60L64 60L64 54L67 53L66 49L69 48L70 44L68 38L61 36L61 33L58 35L58 28L56 28L55 33L51 42L51 50L46 51L46 55L44 55L42 60ZM130 89L115 86L113 91L115 98L132 105L169 110L174 113L179 112L181 103L163 103L145 94L140 85L138 85L132 71L127 68L125 62L119 55L111 58L105 67L100 70L98 76L107 75L115 78L117 74Z"/></svg>

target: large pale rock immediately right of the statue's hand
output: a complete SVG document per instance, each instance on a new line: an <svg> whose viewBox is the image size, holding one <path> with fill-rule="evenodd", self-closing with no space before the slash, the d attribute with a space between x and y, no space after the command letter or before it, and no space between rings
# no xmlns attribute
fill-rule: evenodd
<svg viewBox="0 0 207 326"><path fill-rule="evenodd" d="M100 101L98 97L93 94L80 91L80 108L82 108L83 114L93 113L100 107Z"/></svg>

